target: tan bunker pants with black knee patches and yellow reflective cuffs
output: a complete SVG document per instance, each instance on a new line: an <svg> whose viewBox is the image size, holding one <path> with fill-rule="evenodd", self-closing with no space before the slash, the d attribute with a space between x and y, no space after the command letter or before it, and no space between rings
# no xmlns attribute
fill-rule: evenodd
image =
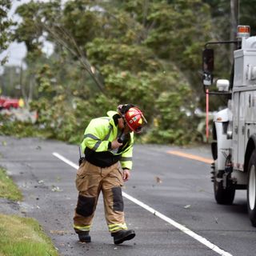
<svg viewBox="0 0 256 256"><path fill-rule="evenodd" d="M76 178L76 186L79 191L78 204L74 213L76 233L90 231L101 191L106 223L110 232L127 229L123 212L122 185L122 169L119 163L101 168L87 161L82 162Z"/></svg>

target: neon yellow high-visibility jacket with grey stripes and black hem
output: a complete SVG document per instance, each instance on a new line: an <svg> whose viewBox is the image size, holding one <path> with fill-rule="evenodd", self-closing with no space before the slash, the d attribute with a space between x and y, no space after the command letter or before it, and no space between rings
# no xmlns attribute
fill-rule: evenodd
<svg viewBox="0 0 256 256"><path fill-rule="evenodd" d="M118 112L108 111L108 117L94 118L86 127L81 144L82 152L88 162L99 167L108 167L120 161L123 169L132 168L134 133L126 134L121 147L110 148L111 142L118 138Z"/></svg>

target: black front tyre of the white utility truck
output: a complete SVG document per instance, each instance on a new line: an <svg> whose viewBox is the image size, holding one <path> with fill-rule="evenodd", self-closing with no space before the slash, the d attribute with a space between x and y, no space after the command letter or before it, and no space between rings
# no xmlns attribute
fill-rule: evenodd
<svg viewBox="0 0 256 256"><path fill-rule="evenodd" d="M227 186L223 187L222 182L218 182L216 180L216 176L214 176L214 196L216 202L221 205L231 205L234 201L235 189L234 187Z"/></svg>

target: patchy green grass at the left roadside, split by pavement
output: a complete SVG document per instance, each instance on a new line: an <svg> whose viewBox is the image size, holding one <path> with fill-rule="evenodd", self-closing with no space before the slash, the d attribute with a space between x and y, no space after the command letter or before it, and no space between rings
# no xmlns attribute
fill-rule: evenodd
<svg viewBox="0 0 256 256"><path fill-rule="evenodd" d="M22 200L22 193L0 166L0 198ZM0 214L0 256L58 256L50 238L33 218Z"/></svg>

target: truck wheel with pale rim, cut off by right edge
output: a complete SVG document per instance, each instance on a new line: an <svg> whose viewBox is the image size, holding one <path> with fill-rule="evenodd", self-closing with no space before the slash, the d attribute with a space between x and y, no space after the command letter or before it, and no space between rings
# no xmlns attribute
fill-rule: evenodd
<svg viewBox="0 0 256 256"><path fill-rule="evenodd" d="M256 150L250 156L247 182L247 209L250 222L256 226Z"/></svg>

